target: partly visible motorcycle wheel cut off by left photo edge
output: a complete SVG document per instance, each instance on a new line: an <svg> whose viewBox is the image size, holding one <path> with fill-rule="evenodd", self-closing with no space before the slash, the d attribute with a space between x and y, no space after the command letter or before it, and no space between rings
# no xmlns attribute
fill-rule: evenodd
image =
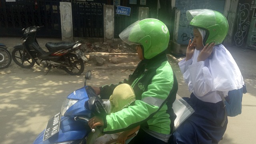
<svg viewBox="0 0 256 144"><path fill-rule="evenodd" d="M0 46L0 69L7 68L11 62L11 53L6 48Z"/></svg>

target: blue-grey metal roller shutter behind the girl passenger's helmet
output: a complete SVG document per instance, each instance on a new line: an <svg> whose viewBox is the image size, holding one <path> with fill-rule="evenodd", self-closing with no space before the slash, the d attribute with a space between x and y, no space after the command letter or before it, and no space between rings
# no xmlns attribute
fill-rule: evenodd
<svg viewBox="0 0 256 144"><path fill-rule="evenodd" d="M188 44L193 38L192 27L189 26L186 11L193 9L211 9L223 14L226 0L176 0L175 7L180 10L178 44Z"/></svg>

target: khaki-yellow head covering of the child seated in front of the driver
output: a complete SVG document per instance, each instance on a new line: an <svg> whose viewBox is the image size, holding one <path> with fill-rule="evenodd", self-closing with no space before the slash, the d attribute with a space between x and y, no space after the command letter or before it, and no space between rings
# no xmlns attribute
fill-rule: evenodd
<svg viewBox="0 0 256 144"><path fill-rule="evenodd" d="M128 107L135 100L134 90L129 84L120 84L116 86L113 94L109 98L111 104L110 113L118 112L119 110Z"/></svg>

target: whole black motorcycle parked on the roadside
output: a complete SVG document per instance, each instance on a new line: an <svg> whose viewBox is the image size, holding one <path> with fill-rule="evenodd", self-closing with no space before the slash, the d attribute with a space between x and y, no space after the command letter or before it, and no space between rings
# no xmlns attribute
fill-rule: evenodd
<svg viewBox="0 0 256 144"><path fill-rule="evenodd" d="M84 72L84 61L87 58L80 50L80 42L48 42L44 51L36 40L36 32L43 26L30 26L22 36L23 42L14 46L12 59L22 68L31 68L35 62L39 66L65 70L70 75L80 75ZM47 74L46 73L46 74Z"/></svg>

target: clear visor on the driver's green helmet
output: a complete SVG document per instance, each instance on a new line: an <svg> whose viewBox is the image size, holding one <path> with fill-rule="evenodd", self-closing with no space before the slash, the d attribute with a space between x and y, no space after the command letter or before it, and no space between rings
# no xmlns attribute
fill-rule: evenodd
<svg viewBox="0 0 256 144"><path fill-rule="evenodd" d="M134 22L119 34L119 37L129 45L140 44L139 40L145 36L139 22L140 20Z"/></svg>

